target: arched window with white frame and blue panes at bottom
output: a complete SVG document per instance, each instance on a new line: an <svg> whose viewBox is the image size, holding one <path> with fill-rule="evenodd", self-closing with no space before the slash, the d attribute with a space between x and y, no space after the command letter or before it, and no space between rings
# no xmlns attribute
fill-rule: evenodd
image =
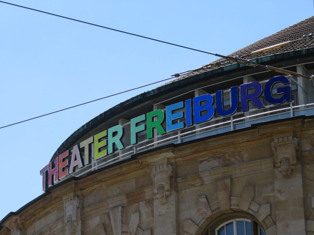
<svg viewBox="0 0 314 235"><path fill-rule="evenodd" d="M243 218L229 220L217 227L216 235L253 235L251 220ZM259 226L258 235L266 235Z"/></svg>

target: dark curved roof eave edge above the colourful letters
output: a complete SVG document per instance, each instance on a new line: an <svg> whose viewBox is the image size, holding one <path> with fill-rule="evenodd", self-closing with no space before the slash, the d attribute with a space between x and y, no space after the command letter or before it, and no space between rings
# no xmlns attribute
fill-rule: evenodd
<svg viewBox="0 0 314 235"><path fill-rule="evenodd" d="M284 60L284 59L291 59L294 57L303 57L307 55L313 55L314 54L314 47L312 48L305 48L300 50L294 50L274 55L268 55L264 57L260 57L251 61L257 62L258 64L265 64L269 62L277 62L278 60ZM136 107L139 104L142 104L145 101L151 100L155 97L158 97L164 93L171 92L173 89L178 89L182 86L187 86L191 83L200 82L208 76L219 76L222 73L227 72L228 74L235 72L236 70L247 70L252 69L252 67L248 67L246 65L241 64L231 64L226 65L223 67L219 67L210 71L206 71L203 73L196 74L194 76L189 76L187 78L181 79L181 80L174 80L172 82L166 83L165 85L159 86L153 90L143 92L135 97L132 97L124 102L121 102L120 104L117 104L114 107L111 107L107 111L101 113L100 115L96 116L95 118L91 119L89 122L85 123L83 126L78 128L75 132L73 132L56 150L56 152L53 154L51 161L58 155L63 153L66 149L68 149L71 144L78 141L78 139L82 136L84 136L86 133L91 131L96 126L100 125L101 123L106 122L110 118L122 113L123 111Z"/></svg>

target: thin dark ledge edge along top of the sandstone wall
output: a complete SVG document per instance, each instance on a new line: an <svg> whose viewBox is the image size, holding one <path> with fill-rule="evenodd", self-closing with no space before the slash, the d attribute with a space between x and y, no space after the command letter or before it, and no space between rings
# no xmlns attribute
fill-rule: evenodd
<svg viewBox="0 0 314 235"><path fill-rule="evenodd" d="M107 167L103 167L103 168L97 169L95 171L86 173L86 174L84 174L82 176L79 176L79 177L72 176L72 177L70 177L70 178L60 182L59 184L52 186L51 188L49 188L49 190L46 190L40 196L38 196L35 199L33 199L32 201L26 203L24 206L19 208L16 212L9 212L0 221L0 230L4 227L3 223L6 222L11 216L18 215L20 212L24 211L27 207L33 205L34 203L36 203L37 201L41 200L42 198L50 195L51 194L51 190L53 190L53 189L55 189L57 187L60 187L60 186L66 184L66 183L68 183L70 181L80 180L82 178L85 178L85 177L90 176L90 175L94 175L94 174L96 174L96 173L98 173L100 171L106 170L106 169L114 167L116 165L120 165L120 164L123 164L123 163L128 162L128 161L132 161L134 159L137 159L137 157L140 156L140 155L148 154L148 153L151 153L151 152L154 152L154 151L158 151L160 149L165 149L165 148L169 148L169 147L180 147L180 146L184 146L184 145L187 145L187 144L193 144L195 142L199 142L199 141L203 141L203 140L207 140L207 139L212 139L212 138L217 138L217 137L221 137L221 136L225 136L225 135L229 135L229 134L233 134L233 133L243 132L243 131L246 131L246 130L255 129L255 128L257 128L259 126L263 126L263 125L268 125L268 124L273 124L273 123L282 123L282 122L292 121L292 120L297 120L297 119L305 120L305 119L312 119L312 118L314 118L314 115L311 115L311 116L300 115L300 116L295 116L295 117L290 117L290 118L282 118L282 119L277 119L277 120L272 120L272 121L267 121L267 122L253 123L253 124L251 124L251 126L246 127L246 128L240 128L240 129L236 129L236 130L232 130L232 131L228 131L228 132L224 132L224 133L218 133L218 134L214 134L214 135L210 135L210 136L205 136L205 137L202 137L202 138L193 139L193 140L190 140L190 141L187 141L187 142L178 143L178 144L174 144L174 143L166 144L166 145L154 148L154 149L148 149L148 150L143 151L141 153L133 154L133 155L131 155L130 159L125 159L124 161L119 161L119 162L117 162L115 164L108 165Z"/></svg>

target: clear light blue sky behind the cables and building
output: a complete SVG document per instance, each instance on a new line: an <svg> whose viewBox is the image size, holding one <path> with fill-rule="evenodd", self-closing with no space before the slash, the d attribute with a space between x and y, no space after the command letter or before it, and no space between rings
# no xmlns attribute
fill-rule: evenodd
<svg viewBox="0 0 314 235"><path fill-rule="evenodd" d="M223 55L314 13L312 0L10 3ZM0 22L0 126L165 79L217 59L3 3ZM0 129L0 220L41 195L39 171L76 129L161 84Z"/></svg>

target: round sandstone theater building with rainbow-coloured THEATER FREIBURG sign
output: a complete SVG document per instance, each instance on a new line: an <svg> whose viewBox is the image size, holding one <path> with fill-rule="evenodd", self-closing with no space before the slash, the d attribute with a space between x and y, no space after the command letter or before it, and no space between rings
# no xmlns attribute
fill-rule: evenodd
<svg viewBox="0 0 314 235"><path fill-rule="evenodd" d="M313 32L230 55L292 75L220 59L84 124L0 235L314 234Z"/></svg>

